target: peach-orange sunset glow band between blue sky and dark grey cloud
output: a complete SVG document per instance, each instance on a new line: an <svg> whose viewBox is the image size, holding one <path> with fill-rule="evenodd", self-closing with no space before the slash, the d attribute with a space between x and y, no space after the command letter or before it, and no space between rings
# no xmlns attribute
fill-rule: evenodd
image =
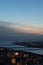
<svg viewBox="0 0 43 65"><path fill-rule="evenodd" d="M9 28L16 30L19 33L26 33L26 34L38 34L43 35L43 28L33 27L33 26L20 26L20 25L10 25Z"/></svg>

